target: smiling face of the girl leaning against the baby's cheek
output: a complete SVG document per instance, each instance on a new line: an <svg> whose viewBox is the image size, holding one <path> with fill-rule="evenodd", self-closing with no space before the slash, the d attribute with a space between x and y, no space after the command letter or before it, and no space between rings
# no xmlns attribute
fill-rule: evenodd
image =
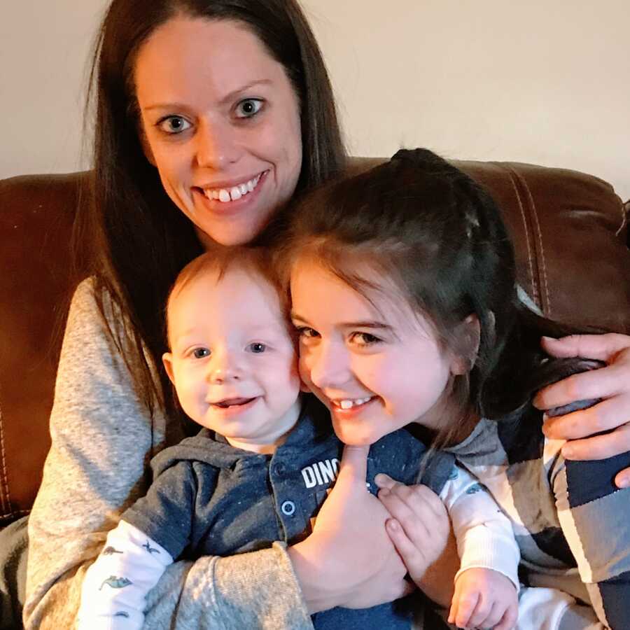
<svg viewBox="0 0 630 630"><path fill-rule="evenodd" d="M363 277L384 286L369 269ZM372 304L316 262L291 274L300 374L346 444L373 444L412 422L437 429L446 406L454 358L393 285L384 288Z"/></svg>

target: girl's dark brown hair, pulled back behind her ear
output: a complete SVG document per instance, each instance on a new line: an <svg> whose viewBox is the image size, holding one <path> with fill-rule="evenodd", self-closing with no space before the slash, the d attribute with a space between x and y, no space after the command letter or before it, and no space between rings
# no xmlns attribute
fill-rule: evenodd
<svg viewBox="0 0 630 630"><path fill-rule="evenodd" d="M540 336L575 332L521 306L512 242L496 203L424 149L399 151L304 198L278 254L285 275L304 256L367 299L384 287L365 278L364 265L393 281L442 346L470 362L451 384L464 422L529 404L554 377ZM461 325L470 315L479 321L479 339ZM559 376L566 369L564 361Z"/></svg>

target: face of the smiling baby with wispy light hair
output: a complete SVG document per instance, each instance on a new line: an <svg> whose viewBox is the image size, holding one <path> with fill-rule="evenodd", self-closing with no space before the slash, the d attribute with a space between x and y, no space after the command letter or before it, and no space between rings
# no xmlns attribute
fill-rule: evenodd
<svg viewBox="0 0 630 630"><path fill-rule="evenodd" d="M241 269L204 271L169 302L164 363L183 410L230 444L269 452L300 413L297 356L276 290ZM269 448L271 447L271 448Z"/></svg>

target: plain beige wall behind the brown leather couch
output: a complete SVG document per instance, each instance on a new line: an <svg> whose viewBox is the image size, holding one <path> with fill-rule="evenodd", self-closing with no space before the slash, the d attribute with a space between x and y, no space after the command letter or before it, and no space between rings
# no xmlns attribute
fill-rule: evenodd
<svg viewBox="0 0 630 630"><path fill-rule="evenodd" d="M85 59L106 1L10 4L0 24L0 177L76 169ZM628 0L303 6L352 153L423 145L570 167L630 197Z"/></svg>

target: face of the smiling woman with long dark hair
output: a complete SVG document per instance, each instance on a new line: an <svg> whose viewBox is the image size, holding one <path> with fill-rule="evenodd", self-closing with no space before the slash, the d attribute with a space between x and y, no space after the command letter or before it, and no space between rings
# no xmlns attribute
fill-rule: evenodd
<svg viewBox="0 0 630 630"><path fill-rule="evenodd" d="M147 158L201 241L253 239L302 167L283 66L239 22L177 17L142 45L134 79Z"/></svg>

